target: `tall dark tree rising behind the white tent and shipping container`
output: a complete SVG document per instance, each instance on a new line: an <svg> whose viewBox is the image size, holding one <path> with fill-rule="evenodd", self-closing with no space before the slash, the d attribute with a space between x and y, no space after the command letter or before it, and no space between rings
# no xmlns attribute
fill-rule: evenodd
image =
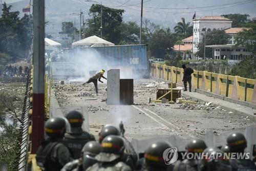
<svg viewBox="0 0 256 171"><path fill-rule="evenodd" d="M118 44L121 38L120 25L122 23L122 14L124 10L114 9L102 6L102 34L103 38ZM100 36L100 5L93 4L89 15L92 18L87 19L87 27L84 29L84 36Z"/></svg>

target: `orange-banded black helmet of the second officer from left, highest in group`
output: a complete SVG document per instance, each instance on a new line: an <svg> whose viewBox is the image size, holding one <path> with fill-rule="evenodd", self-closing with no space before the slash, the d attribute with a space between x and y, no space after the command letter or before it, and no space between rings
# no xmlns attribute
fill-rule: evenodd
<svg viewBox="0 0 256 171"><path fill-rule="evenodd" d="M70 111L66 118L68 119L71 127L81 127L84 120L82 114L78 111Z"/></svg>

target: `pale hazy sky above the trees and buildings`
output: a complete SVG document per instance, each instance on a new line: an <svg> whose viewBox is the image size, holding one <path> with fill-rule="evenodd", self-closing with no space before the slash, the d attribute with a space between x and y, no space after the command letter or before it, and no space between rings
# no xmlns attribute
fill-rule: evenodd
<svg viewBox="0 0 256 171"><path fill-rule="evenodd" d="M0 0L1 1L1 0ZM13 10L22 11L30 0L2 0L11 3ZM95 0L111 8L124 9L124 21L140 23L141 0ZM33 2L31 0L31 2ZM46 20L49 22L47 31L57 31L61 22L76 21L79 23L77 13L80 9L84 13L84 20L89 18L88 11L92 2L85 0L45 0ZM143 19L149 19L162 27L173 27L184 17L186 22L192 23L192 17L220 16L222 14L241 13L256 17L256 0L144 0ZM22 13L23 14L23 13ZM21 15L22 15L21 14ZM59 30L60 31L60 30Z"/></svg>

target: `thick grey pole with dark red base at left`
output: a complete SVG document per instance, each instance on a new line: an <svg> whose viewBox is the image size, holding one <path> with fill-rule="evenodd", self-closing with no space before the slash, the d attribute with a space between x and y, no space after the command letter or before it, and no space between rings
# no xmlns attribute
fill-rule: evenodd
<svg viewBox="0 0 256 171"><path fill-rule="evenodd" d="M33 114L32 149L44 139L45 127L45 0L33 0Z"/></svg>

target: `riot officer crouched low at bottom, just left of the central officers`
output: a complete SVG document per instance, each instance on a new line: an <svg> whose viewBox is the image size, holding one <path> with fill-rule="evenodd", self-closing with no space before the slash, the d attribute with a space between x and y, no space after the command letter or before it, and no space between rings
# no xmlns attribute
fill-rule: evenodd
<svg viewBox="0 0 256 171"><path fill-rule="evenodd" d="M100 143L89 141L82 148L81 158L67 163L61 171L82 171L97 162L95 156L100 153Z"/></svg>

